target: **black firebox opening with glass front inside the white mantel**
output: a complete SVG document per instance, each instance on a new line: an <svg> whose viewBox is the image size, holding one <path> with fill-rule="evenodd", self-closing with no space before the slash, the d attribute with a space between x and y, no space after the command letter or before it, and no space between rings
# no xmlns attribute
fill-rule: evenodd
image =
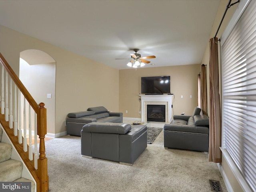
<svg viewBox="0 0 256 192"><path fill-rule="evenodd" d="M147 105L147 121L165 122L165 105Z"/></svg>

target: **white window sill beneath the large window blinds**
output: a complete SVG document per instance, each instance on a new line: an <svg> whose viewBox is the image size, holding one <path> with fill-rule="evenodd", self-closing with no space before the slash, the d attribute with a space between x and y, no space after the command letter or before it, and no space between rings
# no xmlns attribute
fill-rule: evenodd
<svg viewBox="0 0 256 192"><path fill-rule="evenodd" d="M225 148L220 147L220 150L222 151L222 155L224 156L224 158L226 159L226 162L228 163L228 166L230 167L230 169L232 170L234 176L236 177L236 180L238 181L238 183L240 184L241 188L246 191L246 192L253 192L251 190L251 188L248 186L247 182L244 180L244 177L242 176L242 174L240 173L240 171L238 170L238 168L236 167L236 165L234 164L234 162L232 161L232 159L230 158L227 150ZM226 177L227 178L227 177ZM228 182L229 183L229 182ZM225 182L226 184L226 182Z"/></svg>

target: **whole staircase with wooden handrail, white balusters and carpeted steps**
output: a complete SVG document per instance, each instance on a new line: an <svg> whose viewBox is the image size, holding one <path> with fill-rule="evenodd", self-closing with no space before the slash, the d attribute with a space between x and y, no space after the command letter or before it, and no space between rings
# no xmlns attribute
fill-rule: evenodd
<svg viewBox="0 0 256 192"><path fill-rule="evenodd" d="M34 181L33 192L48 192L46 108L36 103L1 53L0 64L0 182ZM37 145L32 147L32 131L40 140L39 153Z"/></svg>

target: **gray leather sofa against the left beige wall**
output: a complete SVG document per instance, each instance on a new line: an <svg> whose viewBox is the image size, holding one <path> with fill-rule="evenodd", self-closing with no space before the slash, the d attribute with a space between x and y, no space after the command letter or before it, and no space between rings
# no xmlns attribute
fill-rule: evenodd
<svg viewBox="0 0 256 192"><path fill-rule="evenodd" d="M69 113L66 119L67 134L81 136L83 126L90 122L122 123L123 113L108 112L103 106L91 107L87 111Z"/></svg>

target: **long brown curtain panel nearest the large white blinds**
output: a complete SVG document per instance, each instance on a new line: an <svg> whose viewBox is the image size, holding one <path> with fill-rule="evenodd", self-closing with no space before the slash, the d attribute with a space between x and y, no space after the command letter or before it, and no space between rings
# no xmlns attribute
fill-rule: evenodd
<svg viewBox="0 0 256 192"><path fill-rule="evenodd" d="M218 38L210 39L209 161L221 162L221 112L219 94Z"/></svg>

